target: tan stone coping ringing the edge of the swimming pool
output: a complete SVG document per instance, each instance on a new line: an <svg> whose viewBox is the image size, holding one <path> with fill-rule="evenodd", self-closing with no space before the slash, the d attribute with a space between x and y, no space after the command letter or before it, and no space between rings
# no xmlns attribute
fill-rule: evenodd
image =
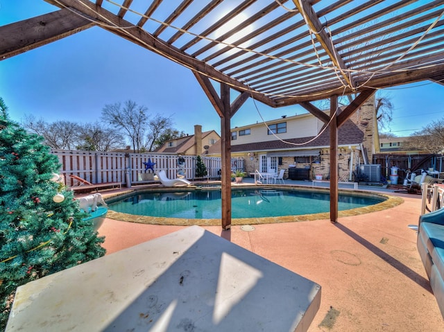
<svg viewBox="0 0 444 332"><path fill-rule="evenodd" d="M289 186L289 185L262 185L257 186L255 184L245 184L242 186L237 186L237 189L298 189L305 191L320 191L324 192L329 191L327 188L312 188L309 186ZM174 189L175 191L189 191L192 190L202 190L198 186L187 186L187 187L162 187L162 186L151 186L151 187L141 187L135 189L128 189L126 191L121 191L118 193L112 193L110 195L106 195L105 201L110 200L112 198L117 198L122 195L130 195L135 191L171 191ZM233 188L234 189L234 188ZM220 190L220 188L216 187L207 187L205 190ZM364 190L354 190L354 189L340 189L339 192L345 193L353 193L353 194L361 194L361 195L374 195L377 197L386 198L384 202L380 202L377 204L369 205L368 207L359 207L356 209L349 209L344 211L338 211L339 217L345 216L359 216L365 213L372 213L375 211L382 211L385 209L391 209L392 207L396 207L404 202L404 200L398 196L388 195L386 193L377 193L375 191L364 191ZM137 222L142 224L149 225L176 225L176 226L190 226L190 225L199 225L199 226L217 226L221 225L221 218L214 219L189 219L189 218L167 218L167 217L152 217L152 216L138 216L129 213L121 213L117 211L113 211L112 209L108 210L107 218L114 220L121 220L126 222ZM282 223L282 222L300 222L300 221L311 221L311 220L325 220L330 219L330 212L323 213L311 213L304 214L300 216L278 216L278 217L262 217L262 218L232 218L231 225L260 225L260 224L271 224L271 223Z"/></svg>

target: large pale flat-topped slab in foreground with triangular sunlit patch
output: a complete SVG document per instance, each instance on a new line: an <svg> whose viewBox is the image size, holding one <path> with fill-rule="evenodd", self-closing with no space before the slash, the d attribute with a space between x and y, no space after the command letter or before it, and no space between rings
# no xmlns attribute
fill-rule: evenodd
<svg viewBox="0 0 444 332"><path fill-rule="evenodd" d="M198 226L17 288L6 331L307 331L321 286Z"/></svg>

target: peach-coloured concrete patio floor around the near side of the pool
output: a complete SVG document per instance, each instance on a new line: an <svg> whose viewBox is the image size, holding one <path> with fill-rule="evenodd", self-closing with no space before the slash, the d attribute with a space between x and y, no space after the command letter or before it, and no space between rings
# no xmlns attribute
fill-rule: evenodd
<svg viewBox="0 0 444 332"><path fill-rule="evenodd" d="M321 308L308 331L444 331L416 231L408 227L418 223L420 195L391 194L404 203L342 217L336 225L314 220L254 225L252 231L204 228L319 283ZM107 218L99 234L112 254L182 228Z"/></svg>

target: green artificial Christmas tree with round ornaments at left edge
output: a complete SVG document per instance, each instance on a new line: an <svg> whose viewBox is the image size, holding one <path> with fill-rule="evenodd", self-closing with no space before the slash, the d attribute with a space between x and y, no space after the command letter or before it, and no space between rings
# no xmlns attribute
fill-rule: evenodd
<svg viewBox="0 0 444 332"><path fill-rule="evenodd" d="M10 121L0 98L0 331L17 286L105 254L42 140Z"/></svg>

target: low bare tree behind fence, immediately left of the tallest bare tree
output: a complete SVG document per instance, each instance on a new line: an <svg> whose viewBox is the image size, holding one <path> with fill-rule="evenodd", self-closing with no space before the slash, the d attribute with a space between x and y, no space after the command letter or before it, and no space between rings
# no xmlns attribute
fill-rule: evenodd
<svg viewBox="0 0 444 332"><path fill-rule="evenodd" d="M122 146L122 135L113 128L104 128L101 123L80 126L78 150L109 151Z"/></svg>

